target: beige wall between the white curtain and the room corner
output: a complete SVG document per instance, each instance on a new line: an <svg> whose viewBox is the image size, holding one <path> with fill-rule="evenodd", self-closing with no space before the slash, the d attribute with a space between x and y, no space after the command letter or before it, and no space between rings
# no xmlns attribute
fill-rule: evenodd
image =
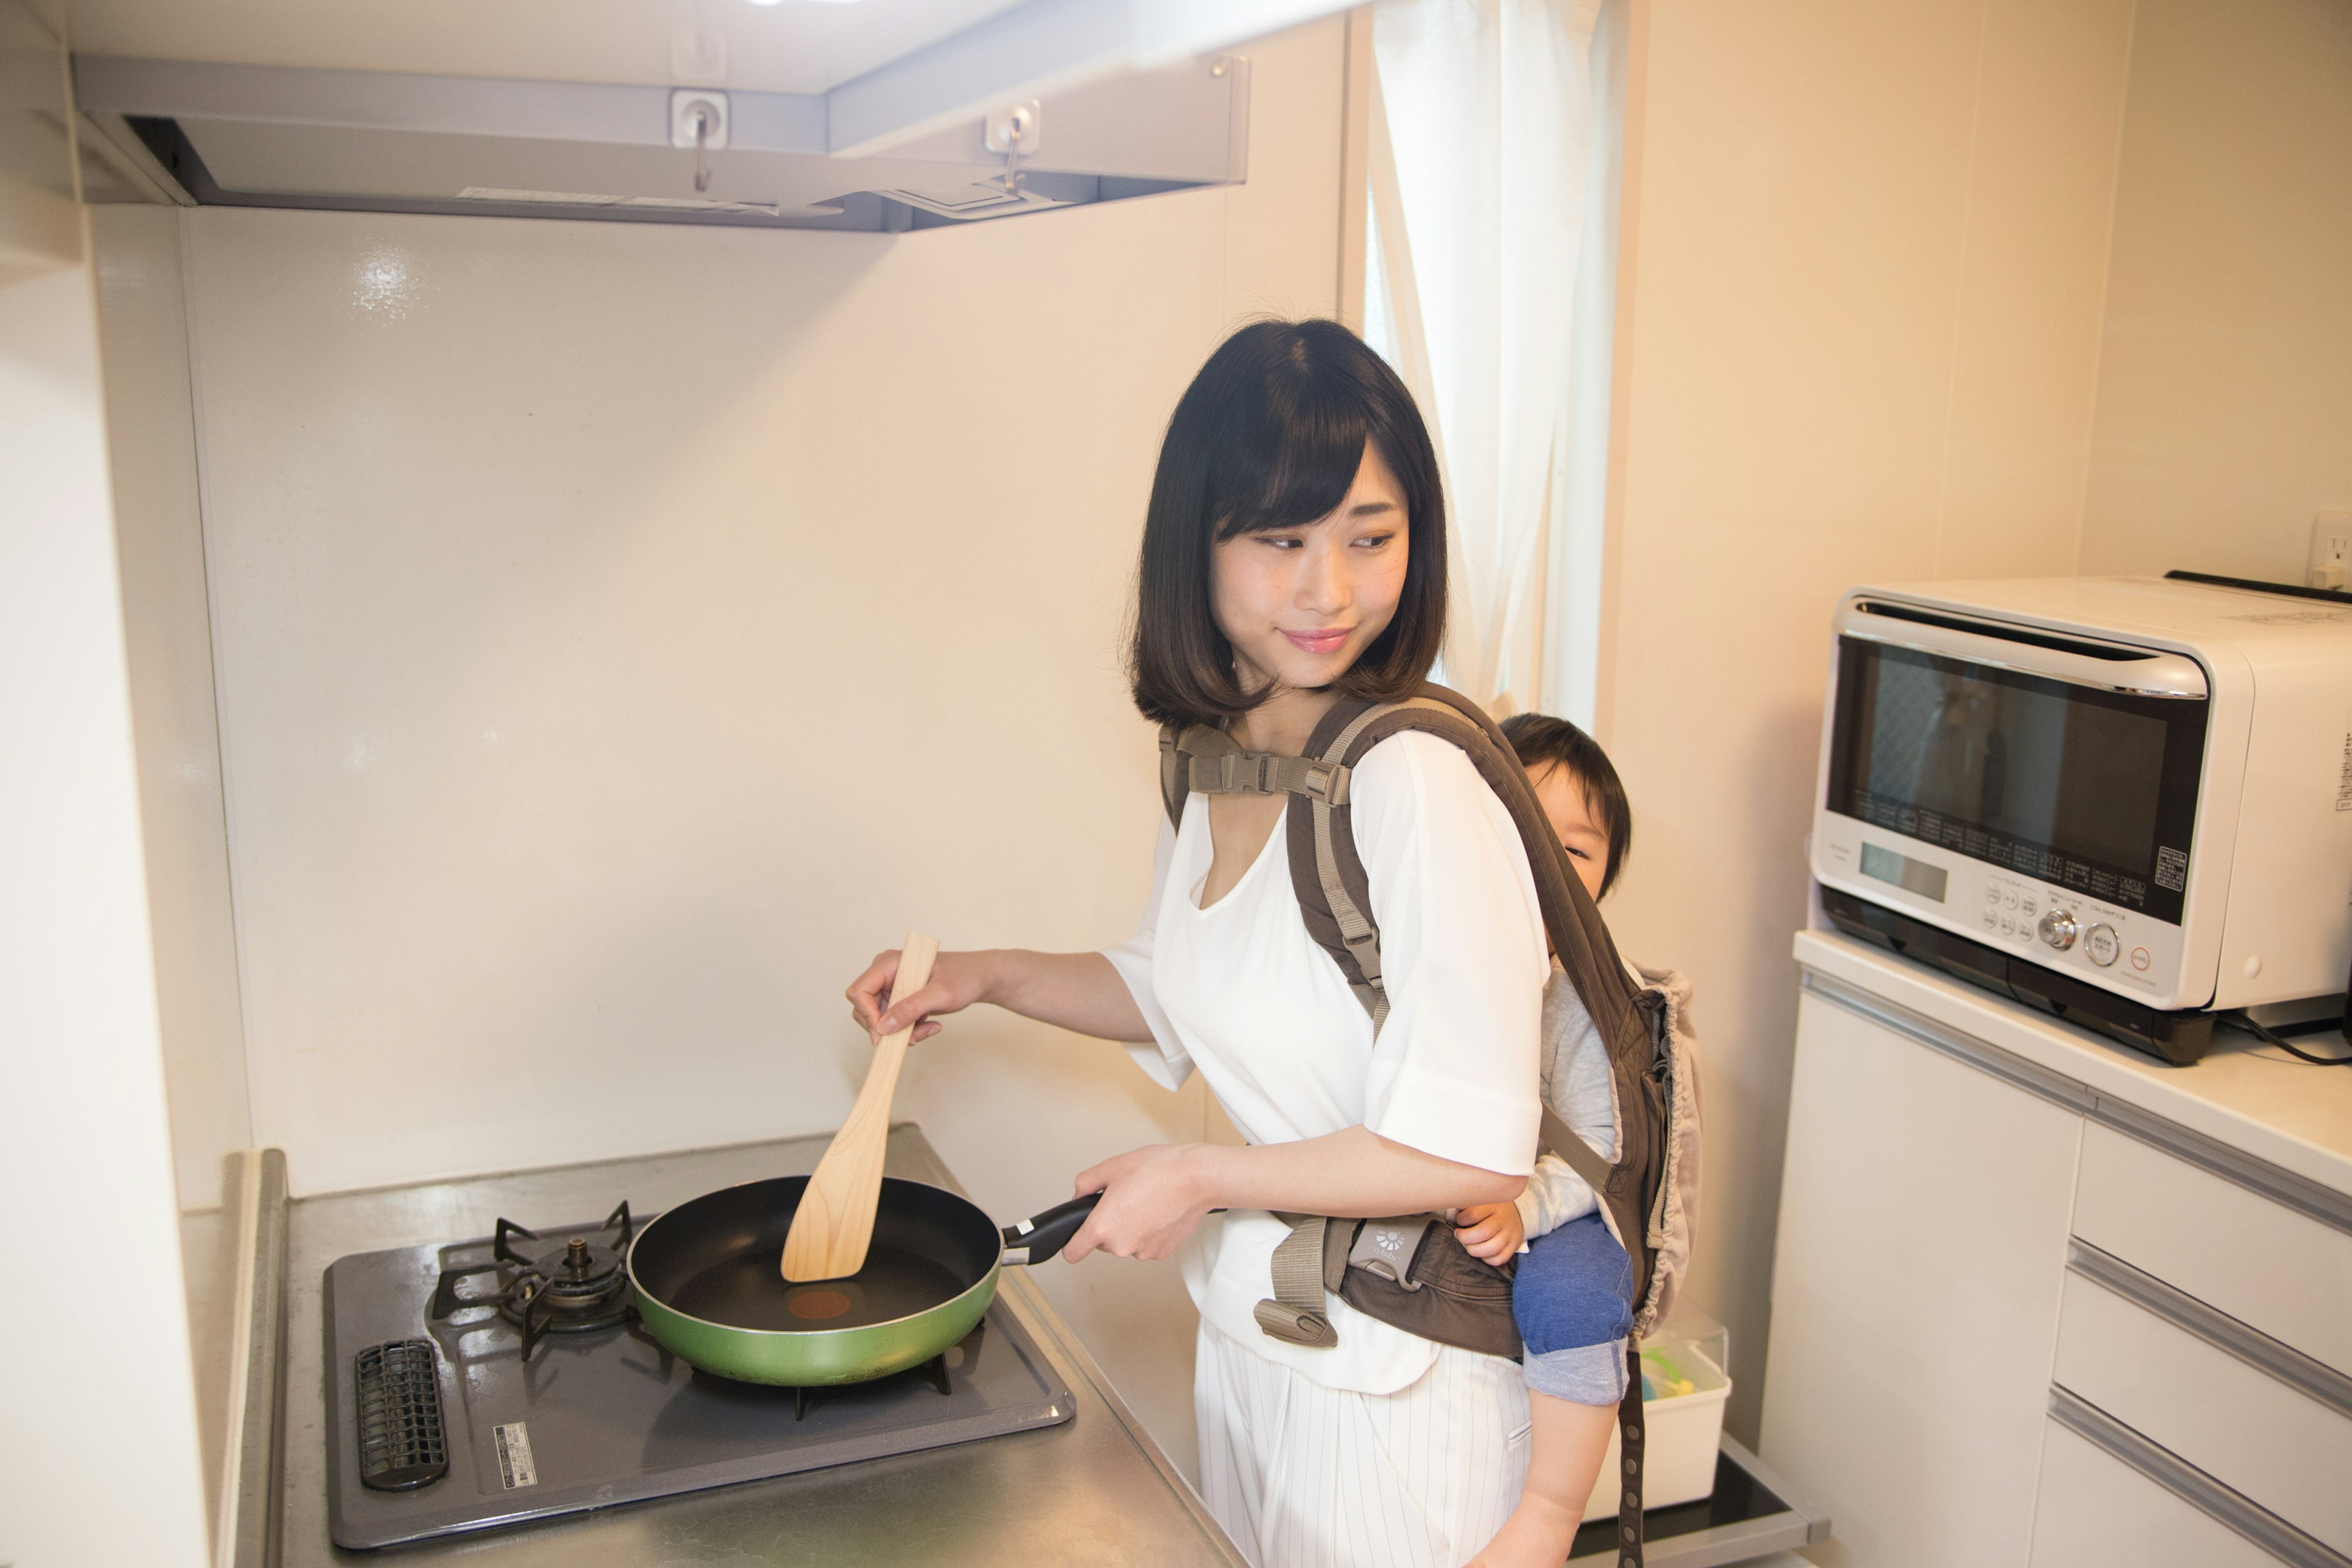
<svg viewBox="0 0 2352 1568"><path fill-rule="evenodd" d="M1599 738L1755 1434L1837 595L2072 571L2131 0L1635 7Z"/></svg>

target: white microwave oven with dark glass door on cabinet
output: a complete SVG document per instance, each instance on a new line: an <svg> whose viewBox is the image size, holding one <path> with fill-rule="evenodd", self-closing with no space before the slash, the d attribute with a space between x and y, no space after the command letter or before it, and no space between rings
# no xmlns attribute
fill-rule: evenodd
<svg viewBox="0 0 2352 1568"><path fill-rule="evenodd" d="M1856 588L1811 870L1846 933L2197 1060L2352 966L2352 609L2169 578Z"/></svg>

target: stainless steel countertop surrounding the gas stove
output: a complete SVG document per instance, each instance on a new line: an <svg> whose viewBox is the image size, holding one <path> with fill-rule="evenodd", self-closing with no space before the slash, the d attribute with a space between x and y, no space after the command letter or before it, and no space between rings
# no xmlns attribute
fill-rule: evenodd
<svg viewBox="0 0 2352 1568"><path fill-rule="evenodd" d="M520 1225L569 1222L604 1213L623 1197L640 1215L654 1213L731 1182L811 1171L823 1152L826 1138L795 1138L296 1201L287 1222L280 1561L287 1568L369 1561L393 1568L459 1556L496 1568L1244 1568L1200 1497L1021 1269L1004 1272L1000 1300L1077 1394L1077 1418L1061 1427L416 1547L341 1552L329 1544L320 1385L320 1276L329 1262L346 1253L482 1237L499 1215ZM887 1168L955 1187L913 1124L891 1128Z"/></svg>

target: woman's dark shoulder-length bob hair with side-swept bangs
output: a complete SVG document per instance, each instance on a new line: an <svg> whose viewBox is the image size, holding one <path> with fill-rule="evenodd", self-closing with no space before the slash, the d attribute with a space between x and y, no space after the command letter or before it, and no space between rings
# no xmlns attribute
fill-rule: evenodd
<svg viewBox="0 0 2352 1568"><path fill-rule="evenodd" d="M1404 496L1404 597L1334 686L1392 703L1430 677L1446 635L1446 501L1414 395L1338 322L1251 322L1200 367L1160 444L1127 658L1145 719L1223 724L1265 701L1216 628L1211 550L1338 510L1367 442Z"/></svg>

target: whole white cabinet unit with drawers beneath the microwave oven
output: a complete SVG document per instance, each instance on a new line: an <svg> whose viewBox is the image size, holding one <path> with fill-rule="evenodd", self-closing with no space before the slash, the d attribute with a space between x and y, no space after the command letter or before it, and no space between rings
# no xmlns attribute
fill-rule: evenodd
<svg viewBox="0 0 2352 1568"><path fill-rule="evenodd" d="M1759 1450L1837 1561L2345 1563L2352 1074L1797 957Z"/></svg>

